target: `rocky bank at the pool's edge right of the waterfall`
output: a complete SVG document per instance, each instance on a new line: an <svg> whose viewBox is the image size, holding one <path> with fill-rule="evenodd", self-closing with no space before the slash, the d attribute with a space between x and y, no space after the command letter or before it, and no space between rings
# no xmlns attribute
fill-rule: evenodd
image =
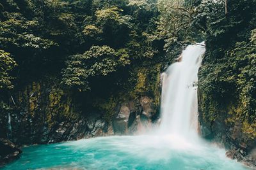
<svg viewBox="0 0 256 170"><path fill-rule="evenodd" d="M214 141L227 150L227 157L237 159L244 164L256 168L256 141L244 133L242 122L236 118L230 122L230 117L239 108L227 107L225 110L214 109L216 116L207 115L204 102L207 96L204 90L198 89L198 111L200 133L202 137ZM214 101L212 101L214 103ZM211 108L211 107L209 107Z"/></svg>

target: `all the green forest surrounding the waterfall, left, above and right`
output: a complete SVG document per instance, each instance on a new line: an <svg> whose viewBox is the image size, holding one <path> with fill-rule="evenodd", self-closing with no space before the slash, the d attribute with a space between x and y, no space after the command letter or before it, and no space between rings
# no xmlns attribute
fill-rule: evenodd
<svg viewBox="0 0 256 170"><path fill-rule="evenodd" d="M3 0L1 100L15 92L10 90L13 85L54 77L65 92L85 96L105 110L113 109L113 96L147 94L159 104L159 73L164 66L189 43L205 40L198 82L202 121L211 126L220 119L232 127L239 120L244 134L256 138L255 4Z"/></svg>

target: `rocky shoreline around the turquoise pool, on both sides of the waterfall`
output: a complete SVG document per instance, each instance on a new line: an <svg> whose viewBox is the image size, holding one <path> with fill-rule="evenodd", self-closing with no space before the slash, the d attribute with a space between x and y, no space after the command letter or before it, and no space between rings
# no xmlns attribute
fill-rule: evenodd
<svg viewBox="0 0 256 170"><path fill-rule="evenodd" d="M138 99L118 99L113 107L113 115L106 119L97 110L90 113L77 111L77 106L68 94L58 87L44 87L33 83L23 92L13 96L15 110L10 113L12 124L12 141L19 146L58 143L97 136L127 135L143 133L150 129L157 120L158 113L155 99L141 96ZM255 143L245 143L241 138L241 125L228 129L216 121L212 129L205 126L199 115L201 135L221 144L227 150L227 157L236 159L244 165L256 169ZM8 115L0 116L0 124L6 128ZM214 128L213 128L214 127ZM224 130L223 130L224 129ZM6 138L8 129L1 129L0 138ZM0 144L8 152L1 153L1 165L19 158L19 147L8 140L1 139ZM9 149L8 149L9 148Z"/></svg>

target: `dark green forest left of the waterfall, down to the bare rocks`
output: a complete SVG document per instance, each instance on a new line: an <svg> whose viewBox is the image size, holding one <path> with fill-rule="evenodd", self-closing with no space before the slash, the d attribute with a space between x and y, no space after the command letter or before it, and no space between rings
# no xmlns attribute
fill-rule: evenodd
<svg viewBox="0 0 256 170"><path fill-rule="evenodd" d="M58 87L63 94L54 96L72 96L77 112L97 108L107 119L125 99L147 94L159 104L159 74L168 58L156 1L4 0L0 10L2 115L22 110L10 96L23 103L17 92L31 84ZM45 89L34 91L33 97ZM29 99L31 117L36 103Z"/></svg>

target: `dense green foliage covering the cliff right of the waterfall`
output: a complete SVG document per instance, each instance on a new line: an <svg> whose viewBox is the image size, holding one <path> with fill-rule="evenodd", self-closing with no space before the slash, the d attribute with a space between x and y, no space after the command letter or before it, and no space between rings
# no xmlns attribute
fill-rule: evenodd
<svg viewBox="0 0 256 170"><path fill-rule="evenodd" d="M208 1L198 6L195 25L205 32L207 52L200 70L201 113L209 126L242 124L256 138L256 1ZM246 140L246 139L245 139Z"/></svg>

